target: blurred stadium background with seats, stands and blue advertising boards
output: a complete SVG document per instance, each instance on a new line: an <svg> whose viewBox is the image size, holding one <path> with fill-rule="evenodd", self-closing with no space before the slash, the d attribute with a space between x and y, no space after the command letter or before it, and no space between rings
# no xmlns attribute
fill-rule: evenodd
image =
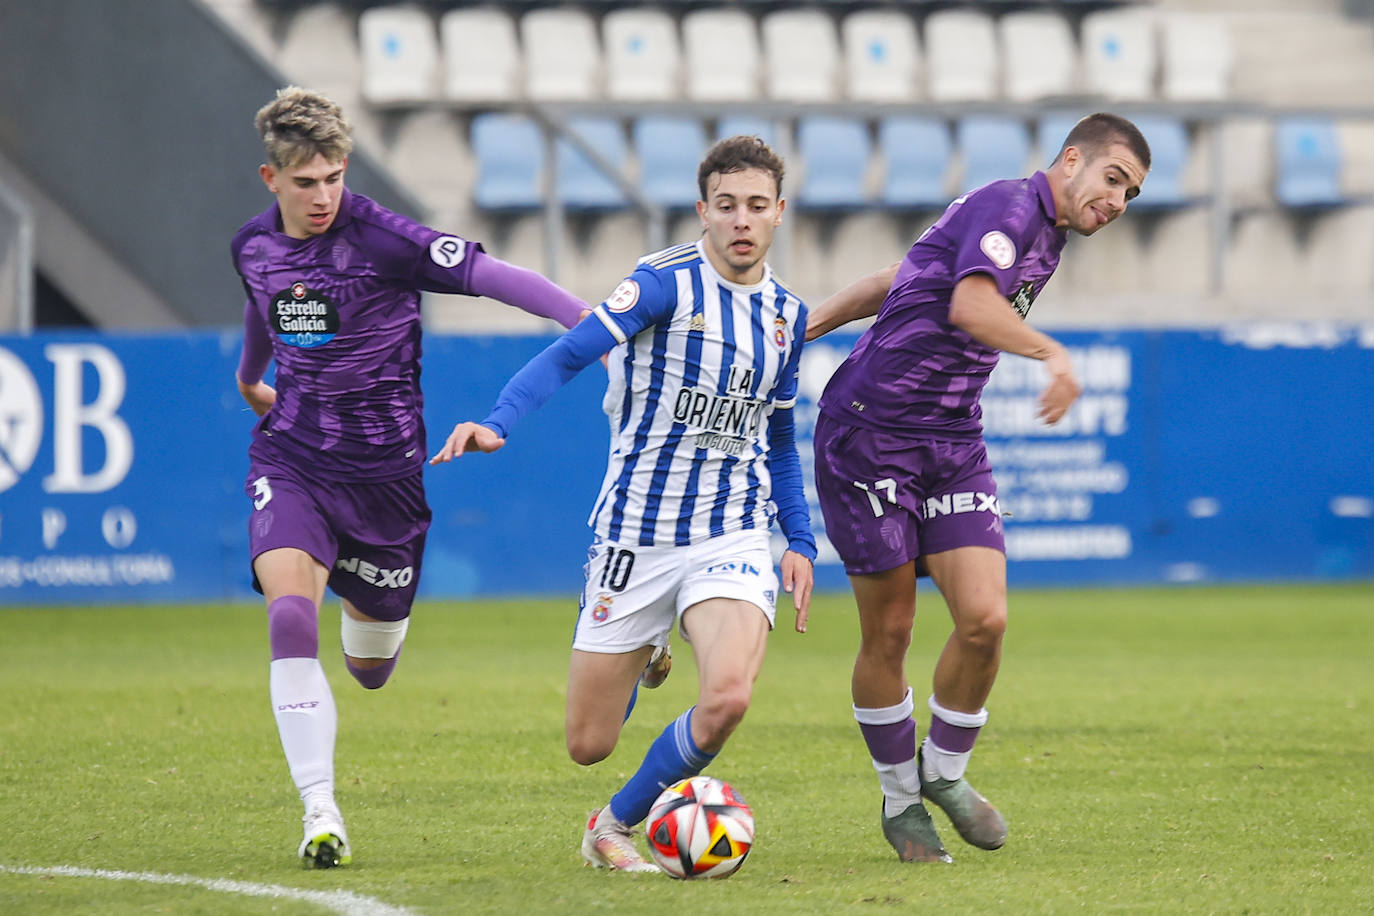
<svg viewBox="0 0 1374 916"><path fill-rule="evenodd" d="M1037 427L1036 367L1004 360L987 402L1013 582L1374 578L1374 4L0 0L7 603L245 596L228 240L269 203L251 117L286 82L345 106L356 191L591 302L697 233L716 136L787 158L771 261L819 302L1127 114L1143 194L1033 314L1087 394ZM554 331L458 297L426 321L431 438ZM808 398L848 339L808 347ZM430 595L576 588L585 375L430 477Z"/></svg>

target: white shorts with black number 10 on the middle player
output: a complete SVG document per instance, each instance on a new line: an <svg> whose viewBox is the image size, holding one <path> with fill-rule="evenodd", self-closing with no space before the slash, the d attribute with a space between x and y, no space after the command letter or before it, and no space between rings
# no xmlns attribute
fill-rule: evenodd
<svg viewBox="0 0 1374 916"><path fill-rule="evenodd" d="M632 652L665 645L673 621L692 604L734 597L758 607L772 629L778 602L768 531L731 531L688 547L620 545L596 538L587 551L587 584L573 648ZM682 629L683 639L687 632Z"/></svg>

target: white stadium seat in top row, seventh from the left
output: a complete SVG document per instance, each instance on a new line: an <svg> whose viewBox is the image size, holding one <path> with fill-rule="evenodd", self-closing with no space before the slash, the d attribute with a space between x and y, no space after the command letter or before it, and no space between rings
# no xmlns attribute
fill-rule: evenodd
<svg viewBox="0 0 1374 916"><path fill-rule="evenodd" d="M841 21L840 32L851 99L896 103L915 99L921 44L908 14L859 10Z"/></svg>

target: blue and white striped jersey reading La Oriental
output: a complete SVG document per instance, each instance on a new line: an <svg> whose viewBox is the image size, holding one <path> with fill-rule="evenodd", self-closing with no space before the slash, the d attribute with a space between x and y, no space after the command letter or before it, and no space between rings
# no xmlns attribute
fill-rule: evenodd
<svg viewBox="0 0 1374 916"><path fill-rule="evenodd" d="M724 280L702 244L646 255L592 312L617 341L588 519L611 541L682 547L772 520L768 422L797 400L807 306L767 265L756 286Z"/></svg>

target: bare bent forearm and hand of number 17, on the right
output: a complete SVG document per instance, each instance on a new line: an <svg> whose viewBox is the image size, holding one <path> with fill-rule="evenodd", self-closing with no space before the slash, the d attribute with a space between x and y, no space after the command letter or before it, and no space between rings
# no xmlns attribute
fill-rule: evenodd
<svg viewBox="0 0 1374 916"><path fill-rule="evenodd" d="M970 273L955 284L949 323L978 343L1044 363L1050 383L1040 393L1040 419L1046 423L1062 420L1083 391L1063 345L1026 324L987 273Z"/></svg>

